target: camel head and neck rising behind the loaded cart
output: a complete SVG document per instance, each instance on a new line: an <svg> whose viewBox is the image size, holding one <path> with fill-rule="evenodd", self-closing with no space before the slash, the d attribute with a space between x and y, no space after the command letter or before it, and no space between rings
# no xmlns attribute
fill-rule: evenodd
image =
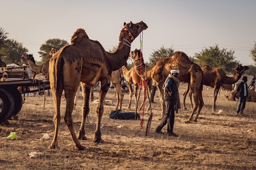
<svg viewBox="0 0 256 170"><path fill-rule="evenodd" d="M31 70L35 73L42 73L44 78L49 79L48 70L49 70L49 60L44 62L42 65L38 66L35 64L35 59L33 54L24 53L22 55L27 60L28 65L30 66Z"/></svg>

